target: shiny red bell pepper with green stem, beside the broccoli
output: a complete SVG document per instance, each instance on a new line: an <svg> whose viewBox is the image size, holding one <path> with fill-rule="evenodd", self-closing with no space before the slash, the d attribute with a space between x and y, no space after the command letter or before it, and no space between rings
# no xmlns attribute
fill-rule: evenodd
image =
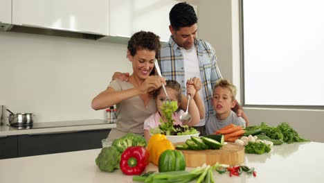
<svg viewBox="0 0 324 183"><path fill-rule="evenodd" d="M145 147L129 147L120 157L120 170L126 175L140 175L149 161L150 155Z"/></svg>

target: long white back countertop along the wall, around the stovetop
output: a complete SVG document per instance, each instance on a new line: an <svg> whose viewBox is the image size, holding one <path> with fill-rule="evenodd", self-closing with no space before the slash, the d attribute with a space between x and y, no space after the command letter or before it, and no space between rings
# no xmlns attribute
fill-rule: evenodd
<svg viewBox="0 0 324 183"><path fill-rule="evenodd" d="M93 121L93 120L91 120ZM99 120L102 121L102 120ZM72 122L72 121L71 121ZM84 121L83 121L84 122ZM52 122L48 122L52 123ZM66 121L69 123L69 121ZM73 121L75 123L75 121ZM102 123L96 125L73 125L73 126L62 126L62 127L53 127L53 128L35 128L28 130L17 130L8 125L0 125L0 137L6 137L10 135L19 135L19 134L46 134L46 133L56 133L56 132L78 132L85 130L103 130L116 128L116 123Z"/></svg>

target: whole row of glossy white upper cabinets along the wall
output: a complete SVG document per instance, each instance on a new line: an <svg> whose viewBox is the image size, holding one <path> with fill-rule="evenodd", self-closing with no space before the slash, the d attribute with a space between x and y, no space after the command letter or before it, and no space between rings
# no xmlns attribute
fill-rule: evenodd
<svg viewBox="0 0 324 183"><path fill-rule="evenodd" d="M100 35L100 40L110 42L127 42L134 33L145 30L168 42L169 12L176 3L179 1L0 0L0 30L10 30L12 24Z"/></svg>

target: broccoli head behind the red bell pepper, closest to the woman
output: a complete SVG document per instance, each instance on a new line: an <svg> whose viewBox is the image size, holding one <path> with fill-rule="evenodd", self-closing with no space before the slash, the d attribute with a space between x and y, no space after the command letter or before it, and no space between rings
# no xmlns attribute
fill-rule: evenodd
<svg viewBox="0 0 324 183"><path fill-rule="evenodd" d="M128 147L131 146L146 146L147 142L144 137L134 133L127 133L119 139L115 139L112 146L115 146L120 153L123 153Z"/></svg>

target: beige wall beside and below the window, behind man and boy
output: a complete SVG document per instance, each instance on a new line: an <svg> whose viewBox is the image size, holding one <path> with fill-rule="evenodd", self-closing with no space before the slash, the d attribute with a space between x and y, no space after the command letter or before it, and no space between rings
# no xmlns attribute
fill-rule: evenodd
<svg viewBox="0 0 324 183"><path fill-rule="evenodd" d="M257 8L257 7L256 7ZM198 6L199 37L208 40L217 51L223 77L240 83L240 45L238 0L201 0ZM240 93L238 93L240 95ZM264 96L267 97L267 96ZM251 125L262 121L269 125L289 123L301 137L324 142L324 111L244 107Z"/></svg>

